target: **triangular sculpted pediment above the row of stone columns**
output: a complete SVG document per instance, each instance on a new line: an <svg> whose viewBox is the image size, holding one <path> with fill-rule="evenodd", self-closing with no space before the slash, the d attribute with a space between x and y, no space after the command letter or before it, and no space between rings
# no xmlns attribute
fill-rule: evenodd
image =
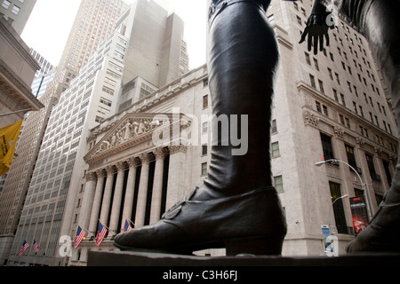
<svg viewBox="0 0 400 284"><path fill-rule="evenodd" d="M171 128L174 120L180 123L182 115L125 114L84 156L84 161L88 163L98 161L143 141L151 141L154 131Z"/></svg>

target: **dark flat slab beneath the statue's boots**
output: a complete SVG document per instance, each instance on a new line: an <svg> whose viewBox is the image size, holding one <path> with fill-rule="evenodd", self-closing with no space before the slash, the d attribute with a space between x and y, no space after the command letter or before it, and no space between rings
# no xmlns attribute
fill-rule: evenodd
<svg viewBox="0 0 400 284"><path fill-rule="evenodd" d="M400 254L357 254L346 256L182 256L143 252L101 252L88 255L88 266L393 266Z"/></svg>

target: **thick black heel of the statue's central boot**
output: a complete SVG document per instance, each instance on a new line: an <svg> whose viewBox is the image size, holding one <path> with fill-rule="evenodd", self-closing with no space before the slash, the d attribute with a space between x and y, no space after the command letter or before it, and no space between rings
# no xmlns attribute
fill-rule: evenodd
<svg viewBox="0 0 400 284"><path fill-rule="evenodd" d="M227 256L256 255L279 256L284 244L283 237L252 237L224 241Z"/></svg>

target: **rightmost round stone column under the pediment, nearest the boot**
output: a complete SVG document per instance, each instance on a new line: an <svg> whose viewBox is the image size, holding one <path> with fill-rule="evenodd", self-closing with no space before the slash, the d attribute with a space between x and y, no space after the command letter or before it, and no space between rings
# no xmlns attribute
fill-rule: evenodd
<svg viewBox="0 0 400 284"><path fill-rule="evenodd" d="M151 199L150 224L154 224L160 219L161 202L163 199L164 160L168 151L163 148L158 148L153 154L156 157L156 170L154 173L153 196Z"/></svg>

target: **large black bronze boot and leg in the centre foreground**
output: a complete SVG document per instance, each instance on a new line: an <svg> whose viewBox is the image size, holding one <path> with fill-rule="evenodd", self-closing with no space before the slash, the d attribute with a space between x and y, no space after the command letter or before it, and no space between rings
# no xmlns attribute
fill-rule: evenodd
<svg viewBox="0 0 400 284"><path fill-rule="evenodd" d="M264 4L269 1L213 2L208 72L217 119L212 123L208 175L204 185L156 224L117 235L117 248L179 254L227 248L228 256L281 254L286 223L272 186L269 154L278 62L276 39L265 16L269 3ZM215 127L217 121L225 127Z"/></svg>

